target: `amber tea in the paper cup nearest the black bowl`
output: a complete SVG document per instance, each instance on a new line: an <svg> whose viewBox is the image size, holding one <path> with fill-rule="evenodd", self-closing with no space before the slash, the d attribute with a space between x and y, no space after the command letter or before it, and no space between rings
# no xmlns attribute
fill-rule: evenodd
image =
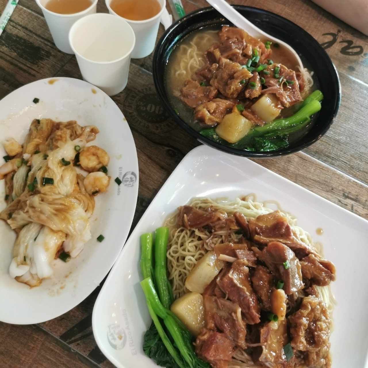
<svg viewBox="0 0 368 368"><path fill-rule="evenodd" d="M132 21L152 18L161 10L157 0L112 0L110 7L120 17Z"/></svg>

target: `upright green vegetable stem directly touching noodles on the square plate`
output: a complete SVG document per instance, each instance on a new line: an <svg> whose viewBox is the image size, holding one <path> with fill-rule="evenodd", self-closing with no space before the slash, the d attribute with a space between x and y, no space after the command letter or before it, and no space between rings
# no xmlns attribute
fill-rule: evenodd
<svg viewBox="0 0 368 368"><path fill-rule="evenodd" d="M167 279L166 252L169 240L169 228L159 227L155 232L155 280L160 301L167 309L174 301L171 285Z"/></svg>

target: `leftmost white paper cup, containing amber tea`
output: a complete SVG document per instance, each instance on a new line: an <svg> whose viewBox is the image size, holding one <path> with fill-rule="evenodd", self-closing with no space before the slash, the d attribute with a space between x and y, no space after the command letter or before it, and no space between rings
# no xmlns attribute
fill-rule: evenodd
<svg viewBox="0 0 368 368"><path fill-rule="evenodd" d="M75 21L88 14L96 13L97 1L93 0L92 5L79 13L74 14L58 14L53 13L45 8L48 0L36 0L36 3L41 8L46 23L49 26L55 46L67 54L74 54L69 44L69 31ZM78 1L78 0L75 0Z"/></svg>

